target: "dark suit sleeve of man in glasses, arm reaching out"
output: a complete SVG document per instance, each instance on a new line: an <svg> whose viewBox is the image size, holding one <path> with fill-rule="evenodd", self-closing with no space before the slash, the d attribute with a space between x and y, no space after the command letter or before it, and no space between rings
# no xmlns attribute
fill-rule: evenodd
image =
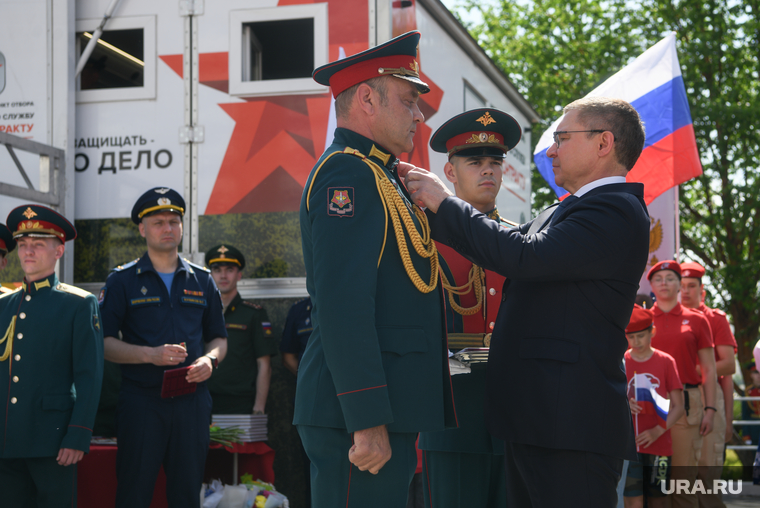
<svg viewBox="0 0 760 508"><path fill-rule="evenodd" d="M624 192L585 196L553 226L527 235L529 224L505 229L450 197L433 216L431 228L437 241L512 280L604 279L619 271L611 260L629 247L632 231L622 225L640 227L640 209L635 196Z"/></svg>

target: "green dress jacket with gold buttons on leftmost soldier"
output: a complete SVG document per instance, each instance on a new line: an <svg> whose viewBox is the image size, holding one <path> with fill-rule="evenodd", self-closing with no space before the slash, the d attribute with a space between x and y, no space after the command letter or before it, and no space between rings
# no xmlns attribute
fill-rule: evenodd
<svg viewBox="0 0 760 508"><path fill-rule="evenodd" d="M53 274L0 297L1 334L14 316L13 336L6 338L12 351L0 362L0 457L88 452L103 378L95 297Z"/></svg>

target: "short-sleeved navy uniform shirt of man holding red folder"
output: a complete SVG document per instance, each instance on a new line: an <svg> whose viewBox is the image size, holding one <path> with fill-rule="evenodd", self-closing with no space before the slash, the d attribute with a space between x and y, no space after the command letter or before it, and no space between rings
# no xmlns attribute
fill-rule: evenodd
<svg viewBox="0 0 760 508"><path fill-rule="evenodd" d="M137 346L184 342L187 357L179 365L122 364L121 390L138 389L160 396L164 371L191 365L205 353L205 343L227 337L222 298L208 269L179 258L171 293L145 253L115 268L100 293L103 335ZM198 383L206 387L206 382Z"/></svg>

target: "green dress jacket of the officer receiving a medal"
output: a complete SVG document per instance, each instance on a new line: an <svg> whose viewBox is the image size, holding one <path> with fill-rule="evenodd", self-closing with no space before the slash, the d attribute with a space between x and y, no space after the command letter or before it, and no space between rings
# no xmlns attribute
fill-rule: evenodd
<svg viewBox="0 0 760 508"><path fill-rule="evenodd" d="M453 426L440 292L422 293L410 281L362 158L339 154L322 164L347 147L395 182L395 158L343 128L307 179L300 221L314 330L299 365L294 423L348 432ZM411 251L429 281L429 260Z"/></svg>

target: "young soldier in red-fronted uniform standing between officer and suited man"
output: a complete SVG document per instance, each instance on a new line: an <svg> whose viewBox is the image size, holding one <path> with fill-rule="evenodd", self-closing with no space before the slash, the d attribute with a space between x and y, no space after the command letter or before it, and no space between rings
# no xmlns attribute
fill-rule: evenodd
<svg viewBox="0 0 760 508"><path fill-rule="evenodd" d="M506 152L520 141L517 122L496 109L482 108L445 122L430 147L446 153L446 178L457 197L505 227L516 226L496 211ZM504 277L474 265L436 242L446 291L449 349L488 347L501 303ZM454 360L456 361L456 360ZM452 375L459 427L420 434L423 490L427 507L504 506L504 442L491 437L484 419L486 364ZM453 374L453 371L452 371Z"/></svg>

